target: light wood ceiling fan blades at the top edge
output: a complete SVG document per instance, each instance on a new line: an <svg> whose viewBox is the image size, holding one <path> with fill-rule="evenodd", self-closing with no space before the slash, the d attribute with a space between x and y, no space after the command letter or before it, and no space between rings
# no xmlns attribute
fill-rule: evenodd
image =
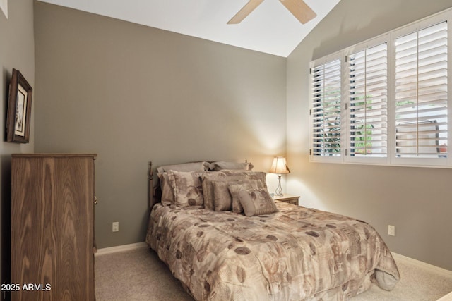
<svg viewBox="0 0 452 301"><path fill-rule="evenodd" d="M239 24L246 16L248 16L263 0L249 0L242 9L232 17L227 24ZM280 2L304 24L317 16L317 14L303 0L280 0Z"/></svg>

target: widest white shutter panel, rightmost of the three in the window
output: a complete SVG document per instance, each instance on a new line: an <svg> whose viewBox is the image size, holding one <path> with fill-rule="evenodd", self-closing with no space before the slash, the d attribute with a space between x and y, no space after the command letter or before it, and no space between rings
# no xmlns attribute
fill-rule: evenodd
<svg viewBox="0 0 452 301"><path fill-rule="evenodd" d="M396 156L447 156L447 22L396 39Z"/></svg>

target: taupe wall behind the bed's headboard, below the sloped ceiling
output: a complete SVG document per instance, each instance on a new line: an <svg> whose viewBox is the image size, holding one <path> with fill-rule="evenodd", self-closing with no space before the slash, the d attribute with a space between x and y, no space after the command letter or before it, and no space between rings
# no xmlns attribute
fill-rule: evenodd
<svg viewBox="0 0 452 301"><path fill-rule="evenodd" d="M150 160L285 154L281 57L42 2L35 41L35 152L98 154L98 247L144 240Z"/></svg>

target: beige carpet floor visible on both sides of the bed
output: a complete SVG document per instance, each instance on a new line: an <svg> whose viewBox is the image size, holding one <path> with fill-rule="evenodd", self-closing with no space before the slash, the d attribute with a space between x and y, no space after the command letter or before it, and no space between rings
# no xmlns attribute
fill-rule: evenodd
<svg viewBox="0 0 452 301"><path fill-rule="evenodd" d="M352 301L435 301L452 291L452 277L398 262L402 279L391 292L372 287ZM96 300L189 300L182 285L148 248L95 257Z"/></svg>

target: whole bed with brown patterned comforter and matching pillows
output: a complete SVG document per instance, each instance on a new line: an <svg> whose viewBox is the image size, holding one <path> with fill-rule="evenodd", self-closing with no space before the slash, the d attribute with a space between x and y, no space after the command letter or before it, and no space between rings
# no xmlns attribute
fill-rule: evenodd
<svg viewBox="0 0 452 301"><path fill-rule="evenodd" d="M157 168L161 193L150 173L146 235L195 300L349 300L399 281L368 223L273 201L252 165L196 164Z"/></svg>

